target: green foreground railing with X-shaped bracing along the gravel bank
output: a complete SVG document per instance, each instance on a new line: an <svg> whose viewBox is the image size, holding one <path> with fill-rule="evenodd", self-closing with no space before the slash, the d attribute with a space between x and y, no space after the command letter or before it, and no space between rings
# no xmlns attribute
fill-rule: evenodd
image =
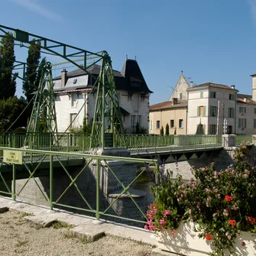
<svg viewBox="0 0 256 256"><path fill-rule="evenodd" d="M147 170L151 169L151 167L154 167L154 171L157 173L159 170L159 166L157 163L157 160L148 160L148 159L139 159L139 158L131 158L131 157L112 157L112 156L99 156L99 155L90 155L90 154L80 154L80 153L64 153L64 152L54 152L54 151L36 151L36 150L28 150L28 149L14 149L11 147L0 147L0 157L2 158L3 152L4 151L15 151L15 152L22 152L23 155L32 155L32 158L35 157L37 158L38 155L41 156L41 160L34 165L28 164L28 160L26 157L23 157L22 164L24 165L25 169L24 171L28 172L28 179L25 181L24 185L19 189L16 190L16 173L18 170L18 165L16 164L7 164L3 163L0 166L0 182L2 182L5 185L5 190L0 191L0 193L11 196L12 199L16 199L17 196L20 196L21 192L24 190L24 187L28 186L28 182L30 180L34 180L34 183L36 183L38 190L41 192L41 194L44 196L44 199L46 200L47 204L50 206L50 209L53 209L53 206L61 206L65 207L68 209L75 209L75 210L80 210L83 212L90 212L92 215L96 216L96 219L99 219L102 216L109 216L114 219L125 219L128 221L132 222L140 222L144 223L147 221L147 216L146 216L146 209L141 209L138 206L138 203L136 203L136 200L134 200L134 197L131 196L131 193L129 192L129 189L134 186L134 183L136 180ZM63 160L63 158L65 160ZM76 174L73 175L71 171L72 170L68 169L66 167L66 159L76 159L76 158L83 158L85 160L85 164L83 166L79 166L79 170L76 170ZM65 185L62 183L61 184L61 192L60 192L60 185L57 185L59 180L58 180L58 174L60 173L60 168L58 170L55 170L53 168L53 162L57 162L62 170L63 173L66 173L67 179L70 180L70 183L65 183ZM122 163L136 163L139 164L140 167L141 165L144 166L142 169L140 168L141 172L137 174L137 177L135 177L133 180L131 180L129 183L128 182L123 182L122 181L122 175L115 173L113 170L113 167L110 166L109 161L122 161ZM40 170L41 165L44 164L44 170L45 170L45 164L46 162L49 164L49 172L48 172L48 177L50 180L50 190L48 195L42 191L41 186L37 183L37 180L35 179L36 173L38 170ZM8 180L5 179L5 173L3 173L3 165L9 165L10 171L12 171L12 184L11 186L8 184ZM122 164L124 166L124 164ZM11 169L12 168L12 169ZM122 188L122 192L118 194L118 196L113 199L111 202L106 200L109 204L105 202L103 206L100 205L100 196L102 194L102 177L105 177L105 174L102 172L105 171L105 168L107 168L107 175L112 175L112 177L115 177L115 181L119 184L119 187ZM6 170L5 170L6 171ZM84 182L79 181L79 178L81 178L82 173L92 173L93 179L96 181L95 186L96 186L96 193L95 193L95 198L93 200L89 199L86 197L87 193L83 193L83 189L85 188ZM122 171L124 173L124 171ZM130 177L128 177L129 180ZM56 186L54 186L54 184ZM65 187L66 186L66 187ZM80 199L82 200L84 207L77 207L73 206L70 204L65 204L61 203L61 199L63 199L63 196L66 194L68 190L70 190L70 187L73 187L74 191L77 191L78 195L80 196ZM114 214L115 211L111 211L112 207L116 203L118 199L122 197L122 195L126 193L125 198L130 198L131 201L134 203L134 206L138 209L140 212L140 215L142 216L143 220L138 220L138 219L130 219L130 218L125 218L122 217L122 215ZM108 195L105 195L108 196ZM54 199L53 199L54 198ZM72 202L73 200L70 200ZM96 202L94 203L95 206L92 206L91 201ZM109 213L111 212L111 213ZM114 212L114 213L113 213Z"/></svg>

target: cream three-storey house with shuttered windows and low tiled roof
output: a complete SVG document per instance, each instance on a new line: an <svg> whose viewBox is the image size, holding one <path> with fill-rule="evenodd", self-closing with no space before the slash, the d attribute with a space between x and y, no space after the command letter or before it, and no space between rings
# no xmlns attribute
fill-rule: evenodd
<svg viewBox="0 0 256 256"><path fill-rule="evenodd" d="M223 134L235 132L235 89L229 86L206 83L188 91L187 134Z"/></svg>

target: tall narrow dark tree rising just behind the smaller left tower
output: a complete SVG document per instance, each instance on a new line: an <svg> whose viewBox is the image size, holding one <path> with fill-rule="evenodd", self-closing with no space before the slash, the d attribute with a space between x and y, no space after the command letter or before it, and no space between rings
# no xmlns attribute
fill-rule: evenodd
<svg viewBox="0 0 256 256"><path fill-rule="evenodd" d="M24 96L27 98L27 102L30 102L32 99L32 92L37 91L36 81L40 81L40 77L37 72L37 67L39 60L41 58L41 42L36 42L35 39L31 41L31 44L28 48L28 58L27 58L27 70L25 72L25 82L23 83L22 89ZM44 59L43 59L44 60Z"/></svg>

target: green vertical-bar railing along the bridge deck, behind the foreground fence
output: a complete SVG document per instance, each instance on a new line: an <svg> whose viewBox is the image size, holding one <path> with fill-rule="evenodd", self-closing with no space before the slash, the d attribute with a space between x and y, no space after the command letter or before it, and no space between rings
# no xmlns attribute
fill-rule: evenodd
<svg viewBox="0 0 256 256"><path fill-rule="evenodd" d="M123 139L123 136L125 139ZM28 148L46 151L77 152L89 154L90 137L79 133L9 133L0 138L3 147ZM122 138L121 138L122 137ZM118 147L127 147L131 152L172 151L202 147L221 147L221 135L150 135L125 134L114 138ZM25 141L27 141L26 144ZM56 142L57 141L57 142ZM125 144L124 144L125 141Z"/></svg>

